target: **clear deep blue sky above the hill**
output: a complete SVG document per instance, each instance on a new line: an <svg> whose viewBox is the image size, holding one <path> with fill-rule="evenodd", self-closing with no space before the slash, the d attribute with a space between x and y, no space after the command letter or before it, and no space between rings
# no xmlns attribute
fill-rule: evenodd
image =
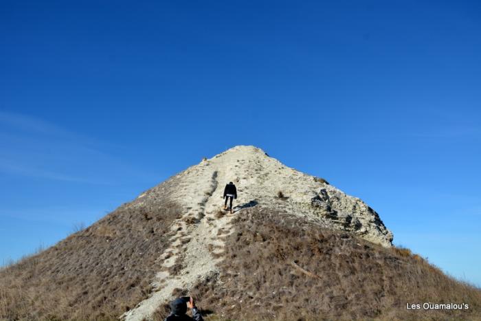
<svg viewBox="0 0 481 321"><path fill-rule="evenodd" d="M481 285L478 1L3 1L0 263L253 144Z"/></svg>

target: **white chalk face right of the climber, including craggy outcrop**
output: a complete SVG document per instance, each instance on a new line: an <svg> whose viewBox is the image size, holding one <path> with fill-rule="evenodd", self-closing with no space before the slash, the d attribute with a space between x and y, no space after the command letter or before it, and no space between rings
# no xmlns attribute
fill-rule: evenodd
<svg viewBox="0 0 481 321"><path fill-rule="evenodd" d="M392 245L392 233L377 212L361 199L346 195L324 179L284 166L260 148L236 146L208 162L214 167L229 164L232 168L227 175L240 189L240 205L250 201L266 208L288 210L323 227L353 232L385 247Z"/></svg>

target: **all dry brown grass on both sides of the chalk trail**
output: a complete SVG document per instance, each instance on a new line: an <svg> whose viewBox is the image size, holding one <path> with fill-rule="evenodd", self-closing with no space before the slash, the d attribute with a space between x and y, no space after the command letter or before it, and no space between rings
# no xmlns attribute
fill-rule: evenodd
<svg viewBox="0 0 481 321"><path fill-rule="evenodd" d="M168 246L168 228L185 210L154 192L148 206L121 206L2 269L0 319L116 320L146 298L161 269L156 259ZM408 249L385 249L259 210L238 212L234 233L219 236L226 243L219 274L189 292L175 291L194 296L206 320L481 319L479 289L445 276ZM464 302L470 309L407 311L407 302ZM159 307L155 320L168 310Z"/></svg>

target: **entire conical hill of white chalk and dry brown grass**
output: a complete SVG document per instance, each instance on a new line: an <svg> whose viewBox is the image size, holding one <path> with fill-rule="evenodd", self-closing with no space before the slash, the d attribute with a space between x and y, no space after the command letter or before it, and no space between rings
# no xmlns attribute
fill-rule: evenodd
<svg viewBox="0 0 481 321"><path fill-rule="evenodd" d="M234 214L220 210L228 181ZM391 241L360 199L236 146L1 270L0 318L150 320L191 291L236 320L389 320L414 316L407 300L463 300L473 308L439 316L479 316L478 289Z"/></svg>

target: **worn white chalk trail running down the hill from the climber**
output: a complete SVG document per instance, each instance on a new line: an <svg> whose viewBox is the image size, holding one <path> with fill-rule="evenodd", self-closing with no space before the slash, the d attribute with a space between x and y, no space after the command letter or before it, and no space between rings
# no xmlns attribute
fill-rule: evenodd
<svg viewBox="0 0 481 321"><path fill-rule="evenodd" d="M199 170L197 173L199 181L210 174L208 186L195 184L199 190L204 191L204 197L201 201L199 197L202 195L194 197L185 195L182 198L194 206L172 224L171 230L176 234L170 239L170 247L159 257L163 263L161 271L153 281L155 287L153 294L140 302L135 309L124 313L122 318L129 321L150 320L159 305L173 298L174 289L189 289L199 280L216 273L219 258L212 254L223 252L224 243L219 236L232 232L230 221L235 215L223 212L222 217L219 215L216 217L223 207L223 190L225 181L228 181L227 173L231 173L231 170L229 164L225 166L212 164ZM188 224L192 220L197 220L197 223ZM169 269L174 265L180 267L180 271L171 275Z"/></svg>

